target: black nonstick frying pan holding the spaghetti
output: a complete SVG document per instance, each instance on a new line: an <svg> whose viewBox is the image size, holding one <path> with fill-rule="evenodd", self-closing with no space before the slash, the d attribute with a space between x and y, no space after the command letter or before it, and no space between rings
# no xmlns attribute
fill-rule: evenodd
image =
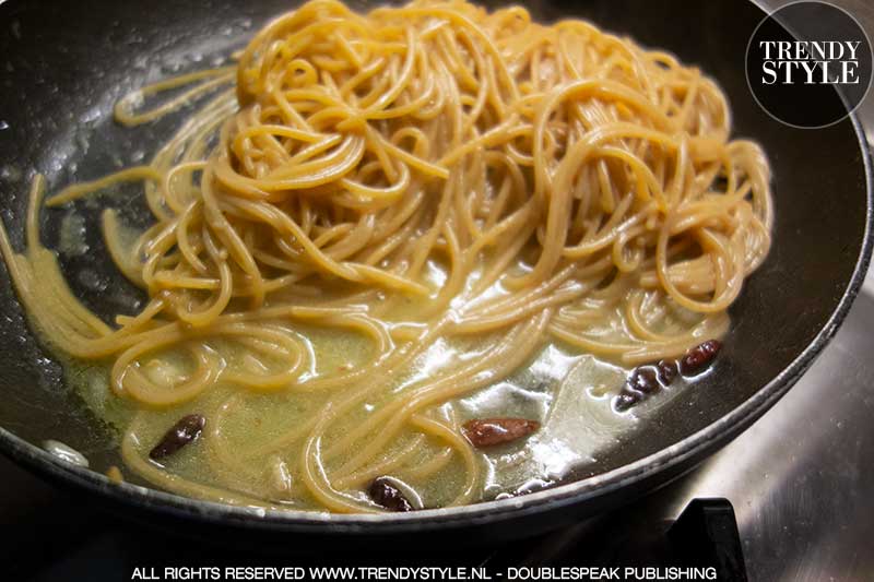
<svg viewBox="0 0 874 582"><path fill-rule="evenodd" d="M169 126L123 130L114 100L132 87L227 56L287 0L81 0L0 3L0 210L21 244L27 182L44 173L50 189L90 179L149 156ZM209 503L126 484L63 464L34 443L59 439L105 468L117 461L111 431L84 409L28 331L5 269L0 269L0 449L46 477L96 496L126 514L154 521L272 533L415 539L451 531L492 541L558 526L605 511L687 471L770 407L835 333L855 296L871 252L871 159L854 118L819 130L782 126L753 100L744 51L764 13L721 2L543 1L535 16L589 19L606 29L664 47L716 76L730 96L739 135L759 141L773 165L773 249L731 309L733 326L714 373L631 439L562 486L500 502L377 516L269 513ZM837 95L834 98L838 98ZM131 202L137 204L137 202ZM129 209L130 210L130 209ZM133 207L137 211L137 207ZM143 210L143 215L145 212ZM44 240L58 244L59 213L43 215ZM108 266L99 236L91 251L64 260L90 307L129 312L132 295ZM83 270L90 275L82 276ZM831 397L823 387L823 397ZM268 534L256 535L256 534ZM456 537L457 541L464 539Z"/></svg>

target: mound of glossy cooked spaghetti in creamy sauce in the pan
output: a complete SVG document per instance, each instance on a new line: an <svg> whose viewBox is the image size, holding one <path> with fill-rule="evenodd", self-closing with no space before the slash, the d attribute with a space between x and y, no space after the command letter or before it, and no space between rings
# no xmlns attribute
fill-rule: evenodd
<svg viewBox="0 0 874 582"><path fill-rule="evenodd" d="M551 343L634 366L719 337L768 252L768 165L730 140L721 91L586 22L312 0L236 67L137 91L116 119L196 102L149 165L46 201L143 182L151 228L130 240L103 214L141 312L105 322L73 297L39 241L42 180L26 250L0 240L49 345L108 359L137 404L128 466L174 491L375 511L364 488L391 474L429 507L477 500L447 403ZM460 356L423 366L438 344ZM176 465L147 458L168 409L208 419Z"/></svg>

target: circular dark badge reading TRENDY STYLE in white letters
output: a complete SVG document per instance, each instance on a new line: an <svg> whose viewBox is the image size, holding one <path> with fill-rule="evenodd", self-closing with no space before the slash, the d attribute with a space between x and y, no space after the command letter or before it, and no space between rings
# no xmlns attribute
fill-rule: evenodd
<svg viewBox="0 0 874 582"><path fill-rule="evenodd" d="M824 128L855 109L872 76L871 41L848 12L818 1L777 10L746 47L746 81L765 111L796 128Z"/></svg>

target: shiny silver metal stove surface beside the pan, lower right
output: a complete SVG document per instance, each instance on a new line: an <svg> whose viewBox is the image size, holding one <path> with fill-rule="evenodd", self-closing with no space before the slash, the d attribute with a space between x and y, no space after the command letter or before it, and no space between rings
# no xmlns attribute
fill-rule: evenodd
<svg viewBox="0 0 874 582"><path fill-rule="evenodd" d="M604 555L605 538L673 520L692 499L724 497L751 581L874 580L872 290L860 294L811 370L748 430L682 479L540 542L541 556Z"/></svg>

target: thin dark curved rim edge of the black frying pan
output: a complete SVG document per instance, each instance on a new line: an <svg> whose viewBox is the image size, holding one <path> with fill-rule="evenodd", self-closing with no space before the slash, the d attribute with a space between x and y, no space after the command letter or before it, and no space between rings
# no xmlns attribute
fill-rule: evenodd
<svg viewBox="0 0 874 582"><path fill-rule="evenodd" d="M321 533L326 527L330 528L331 533L352 535L434 532L459 525L476 525L521 518L606 497L622 488L639 484L648 476L680 467L684 462L701 456L710 448L721 447L745 430L801 378L845 321L852 302L862 288L871 262L872 247L874 247L872 149L866 141L857 111L850 112L848 119L852 123L864 166L865 230L852 276L835 310L801 354L752 397L678 442L621 467L543 491L499 501L400 514L336 514L229 506L128 483L115 484L99 473L57 459L3 427L0 427L0 452L40 476L63 482L66 485L125 504L132 503L150 512L221 525L288 533Z"/></svg>

